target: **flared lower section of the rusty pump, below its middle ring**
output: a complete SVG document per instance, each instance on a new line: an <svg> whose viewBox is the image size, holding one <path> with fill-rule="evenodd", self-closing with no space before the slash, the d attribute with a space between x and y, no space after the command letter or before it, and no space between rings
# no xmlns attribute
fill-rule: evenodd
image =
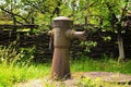
<svg viewBox="0 0 131 87"><path fill-rule="evenodd" d="M70 78L69 49L55 48L51 78Z"/></svg>

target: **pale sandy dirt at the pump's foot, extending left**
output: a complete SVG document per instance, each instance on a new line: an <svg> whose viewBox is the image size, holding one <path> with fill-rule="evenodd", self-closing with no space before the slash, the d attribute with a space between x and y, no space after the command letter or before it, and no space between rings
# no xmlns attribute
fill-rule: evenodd
<svg viewBox="0 0 131 87"><path fill-rule="evenodd" d="M51 80L49 78L39 78L32 79L25 83L20 83L14 85L13 87L76 87L76 79L71 78L67 80Z"/></svg>

